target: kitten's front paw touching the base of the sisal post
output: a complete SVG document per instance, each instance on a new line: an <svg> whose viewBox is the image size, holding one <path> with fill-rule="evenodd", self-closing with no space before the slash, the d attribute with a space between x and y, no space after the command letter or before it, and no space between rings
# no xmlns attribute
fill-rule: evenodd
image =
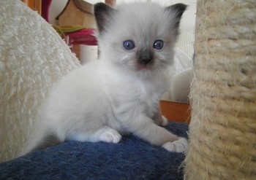
<svg viewBox="0 0 256 180"><path fill-rule="evenodd" d="M165 143L162 147L169 152L184 152L187 150L187 139L179 138L177 141Z"/></svg>

